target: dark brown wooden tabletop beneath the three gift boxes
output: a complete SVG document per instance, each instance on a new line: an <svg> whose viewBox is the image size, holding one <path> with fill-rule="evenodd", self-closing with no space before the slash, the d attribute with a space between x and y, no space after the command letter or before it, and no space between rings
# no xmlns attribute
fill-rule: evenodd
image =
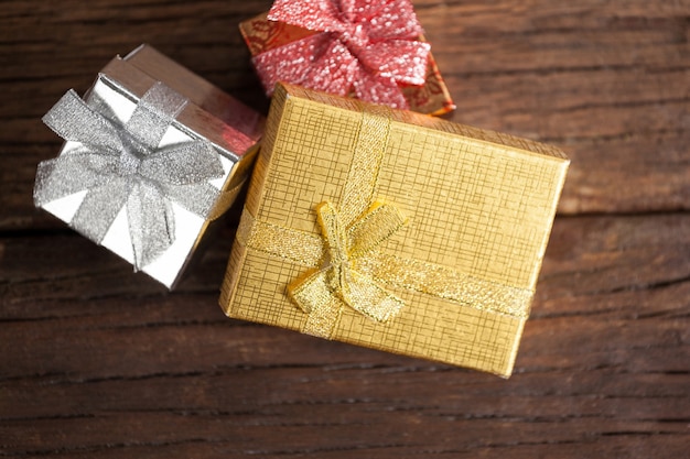
<svg viewBox="0 0 690 459"><path fill-rule="evenodd" d="M41 117L142 42L266 112L269 0L6 0L0 457L688 457L690 2L414 3L452 120L572 159L514 376L227 319L236 218L169 294L34 209Z"/></svg>

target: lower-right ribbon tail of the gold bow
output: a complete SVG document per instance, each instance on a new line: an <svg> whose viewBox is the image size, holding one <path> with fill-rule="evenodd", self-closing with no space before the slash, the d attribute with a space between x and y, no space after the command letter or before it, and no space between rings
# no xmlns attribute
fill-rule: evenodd
<svg viewBox="0 0 690 459"><path fill-rule="evenodd" d="M405 306L402 299L357 271L349 271L341 294L349 307L378 323L388 321Z"/></svg>

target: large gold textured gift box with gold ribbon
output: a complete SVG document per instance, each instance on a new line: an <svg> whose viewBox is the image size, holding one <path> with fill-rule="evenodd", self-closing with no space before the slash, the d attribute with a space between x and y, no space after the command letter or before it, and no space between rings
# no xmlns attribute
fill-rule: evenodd
<svg viewBox="0 0 690 459"><path fill-rule="evenodd" d="M509 376L568 165L553 146L279 85L220 305Z"/></svg>

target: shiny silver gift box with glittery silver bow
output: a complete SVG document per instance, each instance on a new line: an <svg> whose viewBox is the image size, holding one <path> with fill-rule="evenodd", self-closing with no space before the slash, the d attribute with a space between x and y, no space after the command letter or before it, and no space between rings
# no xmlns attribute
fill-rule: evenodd
<svg viewBox="0 0 690 459"><path fill-rule="evenodd" d="M114 58L84 101L63 99L44 118L66 141L39 166L36 206L172 288L247 178L265 119L148 45Z"/></svg>

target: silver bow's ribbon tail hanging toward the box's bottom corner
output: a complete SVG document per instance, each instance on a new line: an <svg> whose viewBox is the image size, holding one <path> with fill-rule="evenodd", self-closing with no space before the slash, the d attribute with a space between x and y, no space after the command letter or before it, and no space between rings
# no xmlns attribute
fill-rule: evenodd
<svg viewBox="0 0 690 459"><path fill-rule="evenodd" d="M136 184L127 199L127 219L134 252L134 270L154 261L175 240L173 208L155 187Z"/></svg>

